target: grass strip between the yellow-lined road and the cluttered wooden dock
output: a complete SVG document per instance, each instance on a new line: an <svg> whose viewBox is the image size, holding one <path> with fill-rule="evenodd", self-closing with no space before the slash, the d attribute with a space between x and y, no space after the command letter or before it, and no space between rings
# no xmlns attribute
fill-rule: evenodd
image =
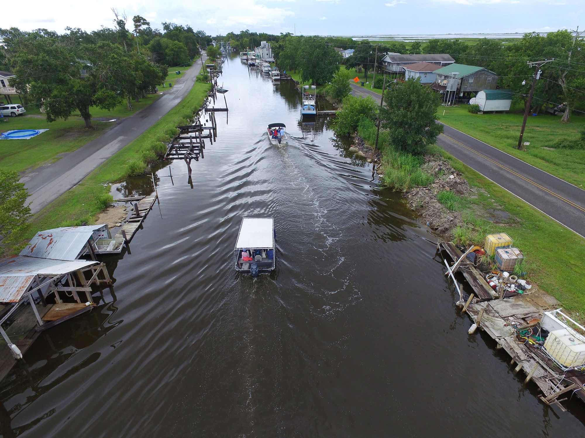
<svg viewBox="0 0 585 438"><path fill-rule="evenodd" d="M585 319L585 239L568 230L545 214L529 206L507 190L484 178L472 168L453 158L441 148L433 147L470 186L477 196L466 198L464 225L455 229L455 237L465 245L483 245L486 234L505 232L514 246L526 257L524 272L543 290L557 298L578 319ZM503 224L487 221L486 211L504 210L512 215Z"/></svg>

